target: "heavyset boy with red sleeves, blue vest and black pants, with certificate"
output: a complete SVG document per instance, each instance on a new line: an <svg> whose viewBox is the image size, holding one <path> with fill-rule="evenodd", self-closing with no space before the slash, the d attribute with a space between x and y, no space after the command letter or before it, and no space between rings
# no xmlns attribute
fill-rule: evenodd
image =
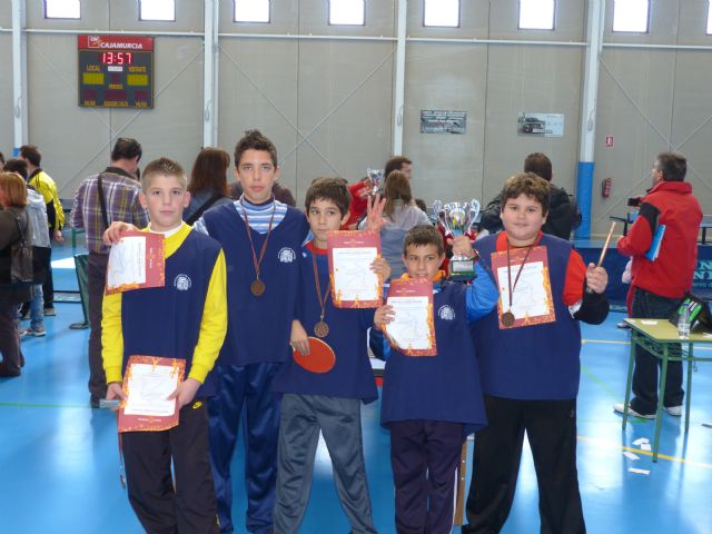
<svg viewBox="0 0 712 534"><path fill-rule="evenodd" d="M501 298L473 328L488 426L478 431L463 533L500 532L510 514L526 432L542 532L585 532L576 474L578 322L609 313L607 275L571 244L541 231L548 184L532 172L502 191L504 231L475 241ZM469 247L459 250L473 255Z"/></svg>

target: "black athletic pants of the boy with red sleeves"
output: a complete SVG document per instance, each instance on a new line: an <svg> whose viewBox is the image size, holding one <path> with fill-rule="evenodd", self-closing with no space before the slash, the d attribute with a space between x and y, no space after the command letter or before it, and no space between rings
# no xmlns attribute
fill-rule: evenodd
<svg viewBox="0 0 712 534"><path fill-rule="evenodd" d="M485 396L485 407L490 425L475 436L466 505L468 524L463 533L502 530L514 500L525 431L536 469L541 532L585 533L576 472L576 399Z"/></svg>

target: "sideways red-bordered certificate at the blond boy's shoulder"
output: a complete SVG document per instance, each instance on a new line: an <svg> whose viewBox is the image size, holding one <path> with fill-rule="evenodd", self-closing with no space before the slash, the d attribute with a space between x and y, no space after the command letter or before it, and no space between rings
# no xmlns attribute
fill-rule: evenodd
<svg viewBox="0 0 712 534"><path fill-rule="evenodd" d="M107 295L166 285L164 236L126 231L111 247L107 266Z"/></svg>

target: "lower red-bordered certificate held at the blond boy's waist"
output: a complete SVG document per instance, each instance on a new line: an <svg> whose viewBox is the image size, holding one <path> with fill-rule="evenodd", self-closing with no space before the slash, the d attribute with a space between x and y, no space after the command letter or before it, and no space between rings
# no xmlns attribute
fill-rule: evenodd
<svg viewBox="0 0 712 534"><path fill-rule="evenodd" d="M130 356L123 376L128 399L119 409L119 432L158 432L178 426L178 399L167 400L182 382L186 360Z"/></svg>

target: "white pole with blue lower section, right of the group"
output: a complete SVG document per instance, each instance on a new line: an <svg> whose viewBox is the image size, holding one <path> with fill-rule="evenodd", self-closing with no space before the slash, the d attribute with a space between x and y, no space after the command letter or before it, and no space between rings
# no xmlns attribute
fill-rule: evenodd
<svg viewBox="0 0 712 534"><path fill-rule="evenodd" d="M593 196L593 157L596 135L596 99L599 96L599 61L603 43L605 0L589 1L587 46L584 63L581 109L581 149L576 178L576 200L582 221L577 238L591 237L591 204Z"/></svg>

